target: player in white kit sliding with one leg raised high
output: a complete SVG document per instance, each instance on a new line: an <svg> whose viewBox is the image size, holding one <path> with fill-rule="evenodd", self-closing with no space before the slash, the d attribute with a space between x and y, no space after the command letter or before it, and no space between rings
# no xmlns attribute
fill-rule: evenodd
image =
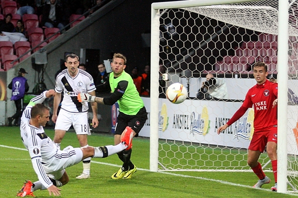
<svg viewBox="0 0 298 198"><path fill-rule="evenodd" d="M45 91L31 99L21 117L21 137L28 149L31 162L39 181L27 180L17 197L34 196L36 190L49 191L50 196L59 196L61 187L69 182L65 168L79 163L87 157L103 158L132 147L132 133L125 134L116 146L73 148L60 150L60 146L49 138L43 127L49 121L49 107L42 104L55 95L54 90Z"/></svg>

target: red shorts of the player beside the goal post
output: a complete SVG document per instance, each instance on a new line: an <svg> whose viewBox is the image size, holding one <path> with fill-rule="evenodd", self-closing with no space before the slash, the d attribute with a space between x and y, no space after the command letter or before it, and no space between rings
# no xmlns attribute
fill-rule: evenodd
<svg viewBox="0 0 298 198"><path fill-rule="evenodd" d="M277 143L277 127L271 127L268 131L255 131L248 149L264 152L268 142Z"/></svg>

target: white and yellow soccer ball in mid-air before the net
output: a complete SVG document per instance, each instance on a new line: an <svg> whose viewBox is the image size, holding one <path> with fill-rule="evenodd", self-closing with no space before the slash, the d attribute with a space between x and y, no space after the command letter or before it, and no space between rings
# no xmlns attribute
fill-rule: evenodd
<svg viewBox="0 0 298 198"><path fill-rule="evenodd" d="M166 90L166 98L174 104L179 104L187 98L187 90L180 83L171 84Z"/></svg>

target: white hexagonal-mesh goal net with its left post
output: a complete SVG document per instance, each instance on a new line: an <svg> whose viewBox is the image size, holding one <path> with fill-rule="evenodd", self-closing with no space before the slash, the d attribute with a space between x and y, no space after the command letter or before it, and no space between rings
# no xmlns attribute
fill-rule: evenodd
<svg viewBox="0 0 298 198"><path fill-rule="evenodd" d="M216 131L256 84L252 75L256 61L268 65L268 79L277 79L278 0L167 5L156 4L160 7L152 12L152 29L157 28L158 33L151 32L151 90L158 87L159 93L155 100L156 95L151 91L150 122L153 127L152 123L158 119L158 131L152 128L150 134L150 169L154 170L157 162L159 171L251 171L247 165L247 148L254 132L254 110L249 109L222 134ZM298 2L289 0L289 7L289 102L284 111L288 116L288 181L295 190L298 188ZM226 95L212 96L201 89L209 73L214 75L218 87L224 82ZM176 82L188 90L189 98L180 104L165 99L166 88ZM158 118L152 112L154 108ZM158 137L156 145L155 137ZM157 156L154 149L158 150ZM265 171L272 170L266 151L259 162Z"/></svg>

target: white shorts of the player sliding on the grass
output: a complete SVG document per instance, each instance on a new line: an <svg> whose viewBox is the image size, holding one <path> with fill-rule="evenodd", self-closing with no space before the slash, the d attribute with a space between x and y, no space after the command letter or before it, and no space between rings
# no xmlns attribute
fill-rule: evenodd
<svg viewBox="0 0 298 198"><path fill-rule="evenodd" d="M68 146L63 150L58 150L51 161L43 163L42 166L50 178L59 180L64 174L65 168L79 163L82 157L83 152L80 148Z"/></svg>

